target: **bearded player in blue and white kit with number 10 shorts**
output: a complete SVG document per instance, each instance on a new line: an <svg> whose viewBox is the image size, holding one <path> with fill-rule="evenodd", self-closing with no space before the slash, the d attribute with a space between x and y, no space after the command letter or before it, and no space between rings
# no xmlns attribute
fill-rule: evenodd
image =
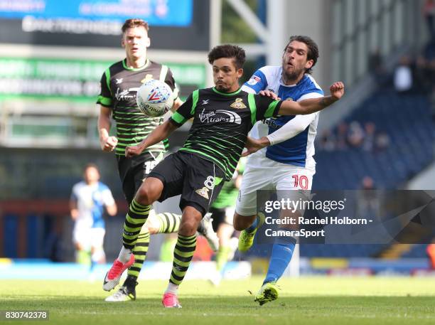
<svg viewBox="0 0 435 325"><path fill-rule="evenodd" d="M282 64L260 68L242 89L252 93L273 93L281 100L294 102L322 97L323 90L310 75L317 59L318 46L311 38L291 36L284 48ZM344 87L338 92L338 97L341 97ZM250 136L257 140L247 144L247 154L251 155L247 159L234 218L235 228L243 230L239 237L240 251L249 250L257 229L264 221L256 219L258 190L311 190L316 172L313 155L318 115L319 112L315 112L266 119L257 122L252 129ZM289 215L287 211L286 216L297 218L300 213L302 211ZM284 225L281 227L288 230ZM296 238L276 238L269 270L255 297L260 305L278 297L276 282L289 265L295 245Z"/></svg>

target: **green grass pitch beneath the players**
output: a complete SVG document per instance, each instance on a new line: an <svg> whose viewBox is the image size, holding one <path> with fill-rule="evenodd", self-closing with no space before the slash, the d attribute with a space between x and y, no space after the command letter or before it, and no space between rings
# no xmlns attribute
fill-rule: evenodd
<svg viewBox="0 0 435 325"><path fill-rule="evenodd" d="M108 303L100 282L1 280L0 310L45 309L50 319L31 324L56 325L435 324L430 277L282 279L279 299L259 307L249 291L257 292L261 281L224 281L218 288L186 281L179 296L183 309L163 309L164 281L141 281L136 302Z"/></svg>

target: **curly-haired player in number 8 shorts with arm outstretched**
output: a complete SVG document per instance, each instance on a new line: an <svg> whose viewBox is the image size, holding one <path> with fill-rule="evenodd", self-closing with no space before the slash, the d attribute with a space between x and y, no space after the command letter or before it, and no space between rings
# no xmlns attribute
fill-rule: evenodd
<svg viewBox="0 0 435 325"><path fill-rule="evenodd" d="M195 251L195 232L218 196L222 181L232 178L252 125L277 114L317 112L340 99L344 92L343 83L336 82L331 86L331 96L301 102L272 100L240 89L239 79L245 63L242 48L217 46L210 51L208 60L213 65L215 87L195 90L168 121L154 129L139 145L127 146L125 151L126 156L141 154L193 117L183 148L161 161L136 192L125 219L119 257L104 278L104 286L111 287L131 264L137 230L146 222L151 204L181 194L183 217L173 252L171 277L163 294L164 307L181 307L178 285Z"/></svg>

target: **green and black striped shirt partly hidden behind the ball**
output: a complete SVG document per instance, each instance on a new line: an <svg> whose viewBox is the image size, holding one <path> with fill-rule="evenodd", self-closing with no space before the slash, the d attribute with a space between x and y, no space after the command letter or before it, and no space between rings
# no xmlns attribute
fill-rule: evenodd
<svg viewBox="0 0 435 325"><path fill-rule="evenodd" d="M176 92L171 70L150 60L141 68L128 68L126 60L111 65L101 78L101 92L97 104L112 109L117 122L118 144L115 153L124 156L126 146L135 146L163 123L163 117L147 117L136 105L136 92L143 82L157 79L166 82ZM177 94L175 94L177 97ZM144 153L166 151L167 140L150 146Z"/></svg>

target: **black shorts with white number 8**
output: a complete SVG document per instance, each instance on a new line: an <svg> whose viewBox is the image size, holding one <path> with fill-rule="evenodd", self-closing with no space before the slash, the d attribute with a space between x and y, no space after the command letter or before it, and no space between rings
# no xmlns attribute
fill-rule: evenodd
<svg viewBox="0 0 435 325"><path fill-rule="evenodd" d="M193 206L203 216L225 181L225 173L213 161L183 151L167 156L148 177L163 182L159 202L181 194L181 211L186 206Z"/></svg>

